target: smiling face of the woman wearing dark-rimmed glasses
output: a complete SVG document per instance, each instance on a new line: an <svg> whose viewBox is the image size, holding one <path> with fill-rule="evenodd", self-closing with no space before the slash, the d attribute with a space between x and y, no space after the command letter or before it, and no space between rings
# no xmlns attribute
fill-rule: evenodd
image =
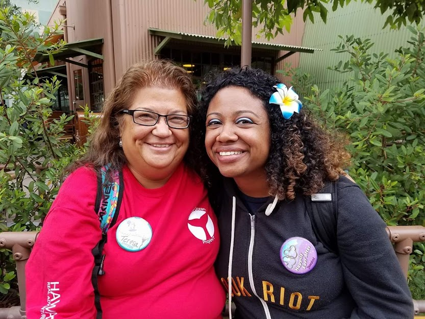
<svg viewBox="0 0 425 319"><path fill-rule="evenodd" d="M138 89L130 110L163 115L187 115L185 96L178 89L148 86ZM189 129L170 128L164 117L154 126L135 124L124 117L121 129L122 149L136 178L167 180L183 161L189 146Z"/></svg>

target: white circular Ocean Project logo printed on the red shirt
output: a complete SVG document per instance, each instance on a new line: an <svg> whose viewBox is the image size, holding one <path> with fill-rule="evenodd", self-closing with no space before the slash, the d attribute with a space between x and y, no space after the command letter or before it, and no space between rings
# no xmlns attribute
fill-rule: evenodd
<svg viewBox="0 0 425 319"><path fill-rule="evenodd" d="M203 243L214 240L214 223L205 208L195 208L189 215L187 227Z"/></svg>

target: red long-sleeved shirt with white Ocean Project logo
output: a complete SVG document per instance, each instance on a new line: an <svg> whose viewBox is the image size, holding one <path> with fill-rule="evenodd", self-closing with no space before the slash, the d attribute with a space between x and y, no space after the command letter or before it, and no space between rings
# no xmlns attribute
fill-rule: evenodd
<svg viewBox="0 0 425 319"><path fill-rule="evenodd" d="M183 164L157 189L141 186L127 166L123 179L104 248L105 275L98 277L103 318L221 318L225 296L213 268L217 220L201 180ZM94 171L77 169L47 214L26 267L29 319L95 318L91 250L102 236L96 187ZM153 233L137 252L116 238L117 227L134 216Z"/></svg>

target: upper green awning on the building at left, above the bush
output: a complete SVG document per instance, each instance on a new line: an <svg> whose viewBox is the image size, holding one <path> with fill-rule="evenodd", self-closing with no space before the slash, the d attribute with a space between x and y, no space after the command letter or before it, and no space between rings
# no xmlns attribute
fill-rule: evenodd
<svg viewBox="0 0 425 319"><path fill-rule="evenodd" d="M103 60L104 56L102 54L98 54L94 52L103 43L104 43L103 38L66 43L64 47L62 48L62 50L53 54L53 57L55 58L55 60L62 60L62 61L66 61L69 63L78 64L78 65L81 64L81 66L87 67L87 65L85 64L69 60L69 58L78 57L81 55L87 55L96 59ZM46 62L48 61L48 55L42 55L38 53L34 57L34 60L38 62Z"/></svg>

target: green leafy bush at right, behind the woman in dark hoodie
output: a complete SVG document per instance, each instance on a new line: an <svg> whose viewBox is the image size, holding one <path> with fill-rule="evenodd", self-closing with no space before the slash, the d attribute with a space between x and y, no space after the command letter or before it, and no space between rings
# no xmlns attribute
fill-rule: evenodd
<svg viewBox="0 0 425 319"><path fill-rule="evenodd" d="M349 72L342 87L322 91L299 69L282 72L323 126L349 137L349 174L385 222L425 226L425 37L409 30L394 59L370 54L368 39L341 37L334 51L348 59L330 69ZM409 271L415 299L425 299L424 263L425 246L415 244Z"/></svg>

